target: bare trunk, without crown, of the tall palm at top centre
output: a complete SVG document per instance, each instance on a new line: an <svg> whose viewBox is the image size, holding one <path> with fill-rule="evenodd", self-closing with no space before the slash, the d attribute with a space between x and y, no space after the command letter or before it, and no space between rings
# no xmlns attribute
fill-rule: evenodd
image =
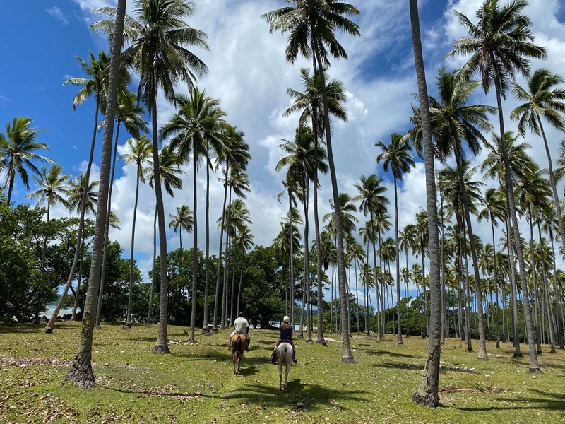
<svg viewBox="0 0 565 424"><path fill-rule="evenodd" d="M333 194L333 207L335 208L335 237L338 242L338 281L340 290L340 329L343 341L341 362L345 364L355 363L351 346L349 343L349 311L347 310L347 283L345 276L345 258L343 254L343 220L338 194L338 179L335 175L335 163L333 163L333 148L331 144L331 127L328 114L328 95L326 93L326 77L324 76L318 46L314 45L314 57L318 64L320 73L320 84L322 88L323 122L326 129L326 147L328 149L328 165L330 167L331 186Z"/></svg>

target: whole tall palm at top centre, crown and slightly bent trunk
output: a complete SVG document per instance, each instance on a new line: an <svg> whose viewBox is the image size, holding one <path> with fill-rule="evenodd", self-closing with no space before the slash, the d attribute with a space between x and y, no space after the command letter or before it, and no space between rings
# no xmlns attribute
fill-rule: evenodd
<svg viewBox="0 0 565 424"><path fill-rule="evenodd" d="M328 149L328 163L332 184L333 202L336 207L336 232L338 239L338 273L340 286L340 315L342 319L341 335L343 339L342 363L355 363L349 343L349 317L347 314L345 258L343 250L343 228L341 212L339 210L338 180L335 175L333 162L333 149L331 143L331 127L328 110L328 95L326 93L325 66L329 65L329 56L347 59L345 49L335 38L335 30L341 30L349 35L360 35L356 23L344 17L359 15L359 9L351 4L336 0L291 0L289 3L295 7L287 6L262 15L270 23L270 32L280 30L289 33L285 57L291 64L295 62L298 54L311 57L314 73L320 73L322 90L323 122L326 131L326 148ZM328 52L329 49L329 52ZM314 182L317 184L317 181Z"/></svg>

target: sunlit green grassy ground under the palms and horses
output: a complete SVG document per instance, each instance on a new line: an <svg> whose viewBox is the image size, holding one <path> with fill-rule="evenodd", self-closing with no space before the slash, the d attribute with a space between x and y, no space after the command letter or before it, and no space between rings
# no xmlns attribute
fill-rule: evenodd
<svg viewBox="0 0 565 424"><path fill-rule="evenodd" d="M420 382L427 341L354 334L356 365L342 365L339 334L328 347L298 340L298 365L287 391L269 356L275 331L251 330L242 374L232 372L229 331L197 336L169 326L170 355L151 353L157 326L105 324L95 331L97 387L79 389L64 379L78 345L78 322L0 327L2 423L565 423L565 352L539 357L542 374L528 374L513 348L489 343L488 361L466 344L442 349L441 408L411 403ZM478 346L478 341L474 341Z"/></svg>

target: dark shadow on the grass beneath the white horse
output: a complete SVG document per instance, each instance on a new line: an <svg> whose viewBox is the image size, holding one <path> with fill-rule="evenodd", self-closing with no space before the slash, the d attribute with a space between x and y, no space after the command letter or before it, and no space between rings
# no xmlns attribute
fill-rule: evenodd
<svg viewBox="0 0 565 424"><path fill-rule="evenodd" d="M278 372L276 372L273 377L275 377L275 382L278 383ZM338 408L341 411L347 411L348 408L341 406L340 402L369 401L369 399L361 396L362 394L364 394L364 391L345 390L343 388L335 390L328 389L319 384L302 384L301 379L292 378L291 370L288 388L285 391L281 391L278 388L278 384L274 387L254 384L235 389L232 393L224 396L224 399L234 399L238 404L247 402L249 404L262 406L263 408L273 408L289 406L290 398L293 402L304 402L310 411L327 408L328 406Z"/></svg>

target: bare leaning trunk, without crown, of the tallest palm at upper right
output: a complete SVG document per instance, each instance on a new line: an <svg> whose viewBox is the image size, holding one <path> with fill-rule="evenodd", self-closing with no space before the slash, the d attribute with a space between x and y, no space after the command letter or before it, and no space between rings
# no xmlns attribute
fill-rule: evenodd
<svg viewBox="0 0 565 424"><path fill-rule="evenodd" d="M491 57L492 63L496 63L494 57ZM516 204L514 204L514 192L513 192L513 184L512 184L512 177L511 177L511 167L510 161L508 158L508 151L506 148L506 141L504 139L504 115L502 114L502 95L501 95L501 87L499 81L499 75L495 69L495 76L494 76L494 87L496 88L496 105L499 108L499 126L500 126L500 139L502 145L502 158L504 160L504 179L506 180L506 192L509 199L509 211L510 211L510 218L513 230L513 245L514 249L516 249L516 256L518 257L518 273L520 276L520 283L522 286L522 294L523 294L523 308L524 308L524 319L525 319L525 330L526 335L528 336L528 351L530 357L530 367L528 370L530 372L540 372L540 365L537 363L537 355L535 352L535 337L534 331L532 326L532 316L530 313L530 300L528 299L528 282L525 279L525 264L524 264L524 255L522 252L522 244L520 239L520 229L518 228L518 217L516 216Z"/></svg>

